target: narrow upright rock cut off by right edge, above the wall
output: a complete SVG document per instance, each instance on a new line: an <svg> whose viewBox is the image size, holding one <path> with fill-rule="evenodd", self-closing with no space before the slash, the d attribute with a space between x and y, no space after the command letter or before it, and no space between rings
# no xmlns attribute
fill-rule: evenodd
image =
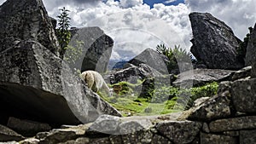
<svg viewBox="0 0 256 144"><path fill-rule="evenodd" d="M247 54L245 57L246 66L252 66L256 61L256 24L253 28L253 33L251 34L248 44L247 44Z"/></svg>

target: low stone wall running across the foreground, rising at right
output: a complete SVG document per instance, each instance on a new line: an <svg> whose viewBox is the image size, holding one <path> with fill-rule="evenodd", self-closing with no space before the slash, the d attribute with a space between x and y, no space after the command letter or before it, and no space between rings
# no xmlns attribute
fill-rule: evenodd
<svg viewBox="0 0 256 144"><path fill-rule="evenodd" d="M195 107L185 112L127 118L102 115L94 123L64 125L61 129L39 132L20 143L253 144L255 94L256 78L222 82L218 95L195 103ZM13 140L24 139L13 133ZM12 139L4 139L2 132L0 140Z"/></svg>

